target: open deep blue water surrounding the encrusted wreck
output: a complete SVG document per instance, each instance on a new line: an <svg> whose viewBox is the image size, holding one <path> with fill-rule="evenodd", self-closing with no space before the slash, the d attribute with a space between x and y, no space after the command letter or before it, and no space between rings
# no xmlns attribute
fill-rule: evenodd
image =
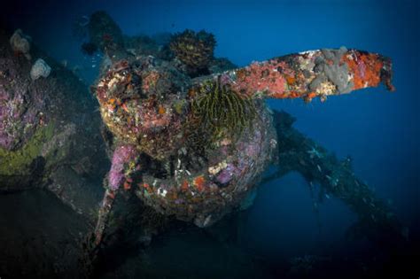
<svg viewBox="0 0 420 279"><path fill-rule="evenodd" d="M377 196L390 200L410 234L418 236L418 1L18 1L2 13L53 58L82 66L81 77L90 84L97 76L92 66L98 62L82 56L71 26L74 19L97 10L108 12L127 35L205 29L216 37L215 56L238 66L343 45L392 58L394 93L380 87L330 97L325 103L296 99L270 100L269 105L292 113L296 128L338 158L351 155L355 174L374 187ZM343 240L355 221L345 205L325 201L320 221L321 230L307 182L290 174L261 188L246 223L245 243L255 253L273 257L357 252Z"/></svg>

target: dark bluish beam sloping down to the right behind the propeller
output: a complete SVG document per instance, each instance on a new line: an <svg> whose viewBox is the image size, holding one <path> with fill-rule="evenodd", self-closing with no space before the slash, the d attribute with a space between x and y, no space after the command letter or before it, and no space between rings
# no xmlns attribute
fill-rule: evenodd
<svg viewBox="0 0 420 279"><path fill-rule="evenodd" d="M335 197L358 215L359 221L351 229L355 230L357 226L357 230L362 229L365 236L383 246L388 242L384 237L392 237L394 242L404 242L404 227L391 208L354 174L351 159L347 157L339 161L333 154L292 128L295 119L287 112L274 111L274 116L278 138L277 171L265 177L262 182L270 182L296 171L309 185L320 185L318 198L315 199L317 204L324 197ZM352 233L351 230L349 232Z"/></svg>

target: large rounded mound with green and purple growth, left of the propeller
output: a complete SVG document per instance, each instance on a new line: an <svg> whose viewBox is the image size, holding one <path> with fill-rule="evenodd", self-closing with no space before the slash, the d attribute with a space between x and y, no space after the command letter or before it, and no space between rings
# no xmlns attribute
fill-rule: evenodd
<svg viewBox="0 0 420 279"><path fill-rule="evenodd" d="M18 34L28 43L29 37L17 31L11 40L0 29L0 192L44 188L88 216L97 203L91 179L105 175L107 161L94 101L78 77L35 47L31 55L48 61L55 74L32 81L34 62L12 45ZM77 175L86 157L95 164Z"/></svg>

